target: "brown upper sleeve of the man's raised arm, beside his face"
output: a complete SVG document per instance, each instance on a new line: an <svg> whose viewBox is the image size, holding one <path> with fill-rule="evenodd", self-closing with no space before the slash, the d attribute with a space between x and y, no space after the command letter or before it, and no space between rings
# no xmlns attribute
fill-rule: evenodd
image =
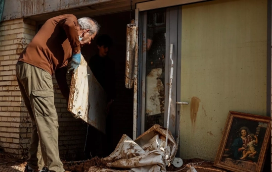
<svg viewBox="0 0 272 172"><path fill-rule="evenodd" d="M58 23L65 31L72 47L73 53L80 52L80 41L78 36L78 20L72 14L64 15Z"/></svg>

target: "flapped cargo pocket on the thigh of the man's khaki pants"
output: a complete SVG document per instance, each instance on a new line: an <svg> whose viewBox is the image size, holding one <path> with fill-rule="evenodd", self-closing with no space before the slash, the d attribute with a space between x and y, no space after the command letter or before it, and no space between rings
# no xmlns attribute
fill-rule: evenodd
<svg viewBox="0 0 272 172"><path fill-rule="evenodd" d="M54 92L47 90L32 91L34 112L36 117L57 115L54 106Z"/></svg>

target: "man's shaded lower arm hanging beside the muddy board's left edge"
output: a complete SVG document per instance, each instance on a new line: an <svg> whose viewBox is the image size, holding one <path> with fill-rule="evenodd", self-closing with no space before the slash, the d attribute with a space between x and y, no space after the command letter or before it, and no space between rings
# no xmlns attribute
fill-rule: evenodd
<svg viewBox="0 0 272 172"><path fill-rule="evenodd" d="M60 92L68 104L70 90L66 80L66 73L67 73L67 61L65 61L65 63L55 71L55 77L56 77Z"/></svg>

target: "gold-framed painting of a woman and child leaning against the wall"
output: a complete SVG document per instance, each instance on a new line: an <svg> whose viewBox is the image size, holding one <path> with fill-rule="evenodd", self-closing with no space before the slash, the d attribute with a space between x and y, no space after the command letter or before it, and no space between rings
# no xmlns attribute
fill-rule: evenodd
<svg viewBox="0 0 272 172"><path fill-rule="evenodd" d="M231 172L262 172L271 138L271 117L230 111L214 166Z"/></svg>

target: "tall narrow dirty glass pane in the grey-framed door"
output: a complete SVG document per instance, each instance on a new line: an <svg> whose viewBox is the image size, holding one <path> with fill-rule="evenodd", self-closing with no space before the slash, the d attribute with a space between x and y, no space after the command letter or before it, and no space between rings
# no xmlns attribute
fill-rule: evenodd
<svg viewBox="0 0 272 172"><path fill-rule="evenodd" d="M164 126L166 9L147 12L145 130Z"/></svg>

